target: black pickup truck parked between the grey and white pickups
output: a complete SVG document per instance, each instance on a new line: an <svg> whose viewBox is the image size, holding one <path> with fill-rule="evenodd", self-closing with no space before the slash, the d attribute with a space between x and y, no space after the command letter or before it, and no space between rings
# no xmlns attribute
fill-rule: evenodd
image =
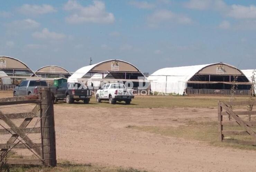
<svg viewBox="0 0 256 172"><path fill-rule="evenodd" d="M66 103L74 103L74 100L83 100L84 104L89 104L92 91L83 83L62 83L55 95L55 101L66 100Z"/></svg>

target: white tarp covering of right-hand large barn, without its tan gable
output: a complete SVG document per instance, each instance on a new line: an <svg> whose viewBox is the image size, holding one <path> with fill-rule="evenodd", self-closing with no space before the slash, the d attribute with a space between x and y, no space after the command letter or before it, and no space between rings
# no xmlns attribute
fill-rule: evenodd
<svg viewBox="0 0 256 172"><path fill-rule="evenodd" d="M182 67L167 67L159 69L148 77L151 90L160 93L174 93L183 95L188 80L204 67L219 64L204 64ZM223 63L225 64L225 63ZM231 66L229 64L225 64ZM235 66L232 66L235 67ZM236 67L235 67L236 68Z"/></svg>

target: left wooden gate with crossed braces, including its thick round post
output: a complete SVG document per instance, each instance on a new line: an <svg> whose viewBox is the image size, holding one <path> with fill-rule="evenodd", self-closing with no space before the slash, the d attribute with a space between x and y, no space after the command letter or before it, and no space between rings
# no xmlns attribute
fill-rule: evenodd
<svg viewBox="0 0 256 172"><path fill-rule="evenodd" d="M2 140L1 136L3 135L11 135L6 143L0 144L1 162L6 161L5 163L8 164L56 165L54 111L50 89L42 89L38 95L0 99L0 108L17 108L17 106L22 108L22 106L31 106L33 104L35 104L35 107L30 112L3 113L0 110L0 140ZM17 120L20 119L24 120L20 125L17 125ZM36 121L31 124L33 119ZM37 143L34 142L36 139L30 138L30 135L35 133L40 133ZM35 158L8 158L7 154L10 151L22 149L28 149Z"/></svg>

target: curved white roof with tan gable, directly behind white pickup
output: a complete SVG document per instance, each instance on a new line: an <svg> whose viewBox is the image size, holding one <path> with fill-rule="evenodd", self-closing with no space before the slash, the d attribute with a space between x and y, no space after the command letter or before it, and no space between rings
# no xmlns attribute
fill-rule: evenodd
<svg viewBox="0 0 256 172"><path fill-rule="evenodd" d="M134 72L140 73L142 76L144 76L136 66L129 62L122 60L107 60L78 69L71 75L71 77L68 78L68 82L76 81L78 78L83 78L83 76L89 72L104 74L111 72Z"/></svg>

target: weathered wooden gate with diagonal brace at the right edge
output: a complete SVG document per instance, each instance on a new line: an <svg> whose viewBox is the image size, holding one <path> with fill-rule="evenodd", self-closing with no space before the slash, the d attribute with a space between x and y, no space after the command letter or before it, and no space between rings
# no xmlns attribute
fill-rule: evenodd
<svg viewBox="0 0 256 172"><path fill-rule="evenodd" d="M256 115L256 111L234 111L231 108L232 106L239 106L238 108L241 108L245 105L247 107L256 105L256 101L219 102L218 119L220 141L256 145L256 132L254 131L256 127L256 121L249 120L248 117L252 115L250 119L255 120L256 118L253 117L253 115ZM234 135L243 135L245 137L240 136L239 138L237 137L237 139L228 137Z"/></svg>

